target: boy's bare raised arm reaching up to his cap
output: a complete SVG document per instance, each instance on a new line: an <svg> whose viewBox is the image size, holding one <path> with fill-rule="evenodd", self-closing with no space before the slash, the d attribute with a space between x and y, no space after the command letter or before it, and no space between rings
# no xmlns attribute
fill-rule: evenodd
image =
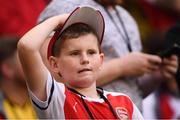
<svg viewBox="0 0 180 120"><path fill-rule="evenodd" d="M57 27L63 24L68 14L54 16L27 32L18 43L18 54L24 70L26 81L31 91L41 100L46 100L47 68L45 67L40 48Z"/></svg>

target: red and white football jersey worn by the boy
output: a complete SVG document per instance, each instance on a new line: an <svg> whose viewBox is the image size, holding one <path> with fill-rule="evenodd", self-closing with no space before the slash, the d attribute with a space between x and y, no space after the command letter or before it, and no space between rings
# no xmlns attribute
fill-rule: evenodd
<svg viewBox="0 0 180 120"><path fill-rule="evenodd" d="M30 97L39 118L48 119L90 119L81 96L70 91L64 84L48 75L47 100L39 100L30 90ZM102 98L83 97L95 119L138 119L143 117L130 98L121 93L104 91L104 96L112 105L116 117Z"/></svg>

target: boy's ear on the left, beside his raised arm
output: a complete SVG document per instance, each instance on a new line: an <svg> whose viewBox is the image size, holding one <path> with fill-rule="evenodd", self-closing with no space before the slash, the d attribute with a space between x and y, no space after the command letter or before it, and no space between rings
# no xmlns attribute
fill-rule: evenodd
<svg viewBox="0 0 180 120"><path fill-rule="evenodd" d="M59 69L58 69L58 62L57 62L57 58L56 57L53 57L53 56L50 56L49 57L49 65L50 65L50 68L53 72L55 73L59 73Z"/></svg>

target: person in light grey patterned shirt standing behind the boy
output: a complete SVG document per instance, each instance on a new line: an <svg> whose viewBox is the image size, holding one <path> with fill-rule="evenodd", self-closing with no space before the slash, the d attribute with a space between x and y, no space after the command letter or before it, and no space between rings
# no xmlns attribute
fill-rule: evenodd
<svg viewBox="0 0 180 120"><path fill-rule="evenodd" d="M118 5L121 2L121 0L53 0L41 14L39 21L68 13L78 6L86 5L99 9L106 24L102 44L106 61L97 84L108 91L128 94L141 109L142 99L157 87L162 78L174 77L177 71L177 57L171 56L169 62L164 64L158 56L141 53L142 46L136 22ZM166 67L160 69L160 64Z"/></svg>

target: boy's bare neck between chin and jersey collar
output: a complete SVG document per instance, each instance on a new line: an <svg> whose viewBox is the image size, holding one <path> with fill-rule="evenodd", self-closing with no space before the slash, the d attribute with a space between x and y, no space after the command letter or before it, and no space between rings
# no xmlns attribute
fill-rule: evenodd
<svg viewBox="0 0 180 120"><path fill-rule="evenodd" d="M100 98L97 90L96 90L96 83L92 84L90 87L87 88L73 88L82 95L89 97L89 98Z"/></svg>

